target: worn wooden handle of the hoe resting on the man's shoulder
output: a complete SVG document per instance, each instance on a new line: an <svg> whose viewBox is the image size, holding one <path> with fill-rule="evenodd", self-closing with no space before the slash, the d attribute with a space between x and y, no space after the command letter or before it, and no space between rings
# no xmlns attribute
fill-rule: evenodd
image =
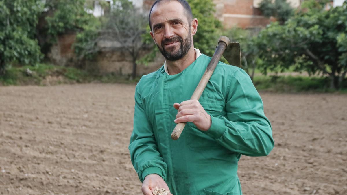
<svg viewBox="0 0 347 195"><path fill-rule="evenodd" d="M195 91L191 97L191 100L199 100L202 92L204 91L207 83L209 82L212 73L217 66L218 61L220 60L220 57L222 56L224 50L227 48L227 46L230 44L230 40L226 36L220 36L218 41L218 46L212 56L212 59L207 66L204 75L201 77L201 80L197 87L195 88ZM178 123L172 131L171 138L176 140L181 135L184 127L186 126L185 122Z"/></svg>

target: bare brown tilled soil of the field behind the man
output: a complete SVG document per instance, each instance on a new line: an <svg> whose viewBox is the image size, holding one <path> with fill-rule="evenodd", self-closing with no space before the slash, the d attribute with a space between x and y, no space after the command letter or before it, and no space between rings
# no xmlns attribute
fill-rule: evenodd
<svg viewBox="0 0 347 195"><path fill-rule="evenodd" d="M134 85L0 87L0 194L136 194ZM275 147L242 156L245 195L347 194L347 95L261 93Z"/></svg>

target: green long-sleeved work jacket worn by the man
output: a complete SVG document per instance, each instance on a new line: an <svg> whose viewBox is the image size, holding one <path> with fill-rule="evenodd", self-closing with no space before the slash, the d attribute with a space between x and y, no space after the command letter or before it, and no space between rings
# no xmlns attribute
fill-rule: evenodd
<svg viewBox="0 0 347 195"><path fill-rule="evenodd" d="M143 182L158 174L174 195L242 194L237 176L241 154L265 156L274 142L263 102L244 70L219 62L199 102L211 115L203 132L188 122L178 140L171 139L177 110L189 100L211 58L202 54L176 75L162 66L136 86L134 130L129 151Z"/></svg>

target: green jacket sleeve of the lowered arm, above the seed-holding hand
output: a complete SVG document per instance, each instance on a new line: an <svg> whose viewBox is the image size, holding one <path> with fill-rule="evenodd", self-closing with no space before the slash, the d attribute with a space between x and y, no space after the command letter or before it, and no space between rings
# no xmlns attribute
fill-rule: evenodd
<svg viewBox="0 0 347 195"><path fill-rule="evenodd" d="M138 86L135 90L134 130L130 137L129 151L130 159L141 182L149 174L160 175L164 181L166 180L167 164L158 151L152 125L138 93Z"/></svg>

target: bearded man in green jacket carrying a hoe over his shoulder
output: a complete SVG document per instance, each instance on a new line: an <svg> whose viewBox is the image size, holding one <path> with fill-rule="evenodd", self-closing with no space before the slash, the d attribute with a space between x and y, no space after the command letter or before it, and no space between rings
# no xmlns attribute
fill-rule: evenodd
<svg viewBox="0 0 347 195"><path fill-rule="evenodd" d="M265 156L273 148L262 100L240 68L219 62L199 101L189 100L211 58L194 49L193 19L185 0L157 0L149 23L166 62L136 86L134 130L129 150L143 182L174 195L242 194L241 156ZM171 133L187 125L176 141Z"/></svg>

